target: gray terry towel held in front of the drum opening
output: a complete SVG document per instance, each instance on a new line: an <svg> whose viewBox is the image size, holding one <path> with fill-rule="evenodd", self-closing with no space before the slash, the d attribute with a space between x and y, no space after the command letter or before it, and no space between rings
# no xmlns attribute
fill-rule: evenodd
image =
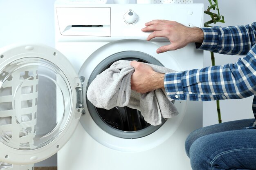
<svg viewBox="0 0 256 170"><path fill-rule="evenodd" d="M171 69L148 64L159 73L175 72ZM131 75L135 69L130 61L119 60L92 81L87 91L88 100L97 108L111 109L115 106L137 109L151 125L162 123L161 117L171 118L178 114L165 90L137 93L130 87Z"/></svg>

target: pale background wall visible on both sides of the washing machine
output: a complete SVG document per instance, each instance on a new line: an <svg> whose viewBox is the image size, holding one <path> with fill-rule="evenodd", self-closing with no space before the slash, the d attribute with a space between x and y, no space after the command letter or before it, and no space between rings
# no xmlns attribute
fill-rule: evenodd
<svg viewBox="0 0 256 170"><path fill-rule="evenodd" d="M16 43L41 43L54 47L54 1L55 0L0 0L0 47ZM108 3L112 3L108 0ZM136 0L130 0L135 3ZM208 0L194 0L204 3ZM255 21L255 0L219 0L221 15L226 23L220 26L245 25ZM204 15L204 22L209 20ZM161 18L159 18L161 19ZM216 55L216 65L234 63L240 56ZM204 52L204 66L210 66L210 53ZM252 97L220 101L222 121L252 118ZM216 102L204 102L203 126L218 123ZM72 162L70 162L72 163ZM37 163L36 166L56 166L56 155Z"/></svg>

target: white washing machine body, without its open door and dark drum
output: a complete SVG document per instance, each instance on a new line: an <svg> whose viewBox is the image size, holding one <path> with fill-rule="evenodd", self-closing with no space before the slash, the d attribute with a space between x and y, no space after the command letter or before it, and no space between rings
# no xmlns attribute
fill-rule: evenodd
<svg viewBox="0 0 256 170"><path fill-rule="evenodd" d="M80 123L58 152L59 170L191 169L184 142L202 127L201 102L175 101L178 116L157 127L127 131L107 124L85 97L93 78L117 60L139 60L176 71L202 68L203 54L194 44L156 53L168 40L147 42L149 33L141 31L154 19L200 27L203 4L55 3L56 49L79 74L84 100Z"/></svg>

